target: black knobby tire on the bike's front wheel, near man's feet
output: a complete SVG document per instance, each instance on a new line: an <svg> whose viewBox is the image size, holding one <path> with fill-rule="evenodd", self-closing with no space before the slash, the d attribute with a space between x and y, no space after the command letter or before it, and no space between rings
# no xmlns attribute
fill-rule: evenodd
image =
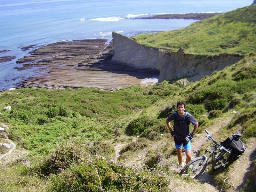
<svg viewBox="0 0 256 192"><path fill-rule="evenodd" d="M199 177L199 176L204 172L204 170L205 170L205 168L206 168L206 166L207 166L207 163L206 163L206 164L204 164L204 166L201 167L201 165L202 165L202 163L204 162L204 160L205 160L205 156L200 156L200 157L197 157L197 158L191 160L190 162L188 162L188 164L186 164L186 165L181 169L180 175L182 175L182 174L187 174L187 171L189 171L189 169L192 168L193 165L195 165L195 164L197 163L196 168L193 168L193 169L191 170L191 172L190 172L190 173L193 174L193 172L199 170L199 172L198 172L195 176L193 176L193 178L196 179L197 177ZM192 165L192 166L189 167L190 165ZM198 167L197 167L197 166L198 166Z"/></svg>

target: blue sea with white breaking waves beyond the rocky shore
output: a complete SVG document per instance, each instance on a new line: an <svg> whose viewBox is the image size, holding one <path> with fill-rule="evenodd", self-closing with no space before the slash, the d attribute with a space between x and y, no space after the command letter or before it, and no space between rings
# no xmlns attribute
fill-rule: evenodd
<svg viewBox="0 0 256 192"><path fill-rule="evenodd" d="M77 40L112 39L184 28L196 20L135 19L151 14L228 12L249 6L252 0L0 0L0 91L15 87L38 68L17 70L16 60L28 54L22 47ZM5 50L3 52L3 50ZM157 78L156 78L157 79ZM147 82L147 80L145 80Z"/></svg>

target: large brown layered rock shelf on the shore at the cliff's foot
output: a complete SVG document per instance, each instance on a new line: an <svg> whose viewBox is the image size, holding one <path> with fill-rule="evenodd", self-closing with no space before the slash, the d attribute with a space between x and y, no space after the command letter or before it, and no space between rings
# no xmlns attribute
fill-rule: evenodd
<svg viewBox="0 0 256 192"><path fill-rule="evenodd" d="M140 84L155 71L138 71L124 63L111 61L113 43L107 39L58 42L40 47L17 60L18 70L40 67L37 76L16 84L18 88L33 87L65 89L94 87L114 90Z"/></svg>

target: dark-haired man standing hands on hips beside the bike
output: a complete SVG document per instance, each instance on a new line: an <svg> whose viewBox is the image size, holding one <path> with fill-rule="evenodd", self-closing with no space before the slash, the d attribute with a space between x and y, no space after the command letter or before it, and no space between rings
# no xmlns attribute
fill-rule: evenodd
<svg viewBox="0 0 256 192"><path fill-rule="evenodd" d="M183 101L177 102L177 112L172 113L166 119L166 125L174 138L174 144L177 150L177 156L179 165L182 167L182 145L185 149L186 164L191 161L191 142L190 140L194 137L196 129L198 128L198 122L195 117L190 113L185 112L186 103ZM173 130L171 128L170 121L173 120ZM188 125L192 123L194 125L193 132L189 134Z"/></svg>

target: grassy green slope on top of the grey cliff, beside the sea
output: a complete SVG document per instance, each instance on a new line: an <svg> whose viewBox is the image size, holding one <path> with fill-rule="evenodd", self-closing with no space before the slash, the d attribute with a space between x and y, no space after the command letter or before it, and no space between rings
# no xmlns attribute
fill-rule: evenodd
<svg viewBox="0 0 256 192"><path fill-rule="evenodd" d="M140 44L191 54L250 54L256 50L256 5L216 15L182 29L132 37Z"/></svg>

